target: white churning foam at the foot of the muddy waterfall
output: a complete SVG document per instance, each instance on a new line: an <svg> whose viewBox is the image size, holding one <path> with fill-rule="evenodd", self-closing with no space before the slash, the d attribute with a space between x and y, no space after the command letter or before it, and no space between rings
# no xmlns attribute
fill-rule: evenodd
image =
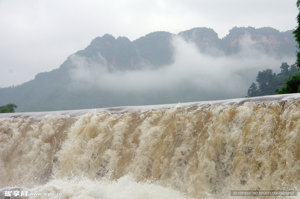
<svg viewBox="0 0 300 199"><path fill-rule="evenodd" d="M15 190L0 189L0 192ZM24 189L24 188L23 188ZM37 186L29 192L62 193L62 196L30 196L31 199L184 199L184 193L150 182L137 182L132 175L125 175L118 181L90 180L86 178L55 179L49 183ZM4 197L2 197L4 198ZM0 193L0 199L1 193ZM22 198L22 197L20 197ZM27 198L27 197L24 197Z"/></svg>

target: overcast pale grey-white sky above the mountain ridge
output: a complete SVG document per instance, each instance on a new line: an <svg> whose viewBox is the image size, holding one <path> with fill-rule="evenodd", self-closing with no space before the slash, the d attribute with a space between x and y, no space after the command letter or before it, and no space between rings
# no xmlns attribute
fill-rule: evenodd
<svg viewBox="0 0 300 199"><path fill-rule="evenodd" d="M154 31L234 26L294 29L296 0L3 1L0 0L0 87L51 71L106 33L131 41ZM292 63L289 63L292 64Z"/></svg>

